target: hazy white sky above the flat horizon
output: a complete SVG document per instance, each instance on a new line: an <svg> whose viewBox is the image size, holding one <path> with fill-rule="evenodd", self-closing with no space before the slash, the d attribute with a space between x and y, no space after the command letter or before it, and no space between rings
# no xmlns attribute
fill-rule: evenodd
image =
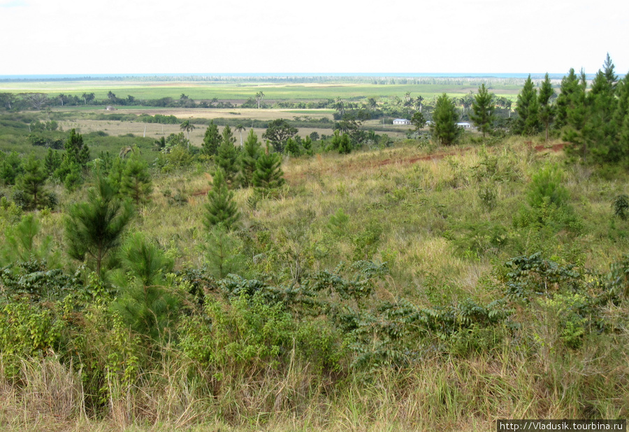
<svg viewBox="0 0 629 432"><path fill-rule="evenodd" d="M0 0L0 75L629 71L627 0Z"/></svg>

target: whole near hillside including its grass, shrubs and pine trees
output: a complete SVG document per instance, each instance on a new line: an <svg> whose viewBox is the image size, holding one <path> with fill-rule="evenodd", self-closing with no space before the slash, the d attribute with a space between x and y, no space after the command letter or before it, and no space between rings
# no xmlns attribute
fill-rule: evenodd
<svg viewBox="0 0 629 432"><path fill-rule="evenodd" d="M397 143L345 104L326 139L278 119L242 146L7 113L0 426L626 417L629 78L604 67L527 82L513 120L481 86L482 135L420 101L432 135Z"/></svg>

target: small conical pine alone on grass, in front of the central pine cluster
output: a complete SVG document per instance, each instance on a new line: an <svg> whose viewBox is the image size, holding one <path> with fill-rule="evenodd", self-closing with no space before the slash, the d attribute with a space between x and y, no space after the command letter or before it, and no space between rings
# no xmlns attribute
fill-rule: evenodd
<svg viewBox="0 0 629 432"><path fill-rule="evenodd" d="M221 168L216 170L212 179L212 189L208 192L208 203L205 204L205 228L221 224L227 230L231 230L238 223L240 213L233 201L233 192L227 189L225 174Z"/></svg>

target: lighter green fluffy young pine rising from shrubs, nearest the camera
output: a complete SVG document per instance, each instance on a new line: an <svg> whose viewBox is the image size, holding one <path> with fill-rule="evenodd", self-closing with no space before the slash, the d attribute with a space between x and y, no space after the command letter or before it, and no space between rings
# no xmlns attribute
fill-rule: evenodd
<svg viewBox="0 0 629 432"><path fill-rule="evenodd" d="M117 277L121 293L111 308L133 331L152 340L167 339L165 333L179 310L179 298L166 282L173 261L164 252L134 234L120 254L122 273Z"/></svg>

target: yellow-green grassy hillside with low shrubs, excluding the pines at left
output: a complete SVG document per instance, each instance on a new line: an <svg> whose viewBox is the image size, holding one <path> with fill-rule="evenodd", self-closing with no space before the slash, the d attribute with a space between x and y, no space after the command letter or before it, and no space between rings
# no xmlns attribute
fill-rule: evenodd
<svg viewBox="0 0 629 432"><path fill-rule="evenodd" d="M159 336L131 331L119 307L131 268L99 281L65 254L64 217L89 184L60 190L38 238L75 279L47 274L59 293L36 301L39 285L22 284L33 291L18 300L3 270L0 427L486 431L627 417L629 221L612 202L629 178L574 164L562 145L398 141L285 158L280 189L234 190L227 278L203 225L212 161L154 168L126 238L173 262L156 285L178 309ZM0 210L3 229L19 217Z"/></svg>

